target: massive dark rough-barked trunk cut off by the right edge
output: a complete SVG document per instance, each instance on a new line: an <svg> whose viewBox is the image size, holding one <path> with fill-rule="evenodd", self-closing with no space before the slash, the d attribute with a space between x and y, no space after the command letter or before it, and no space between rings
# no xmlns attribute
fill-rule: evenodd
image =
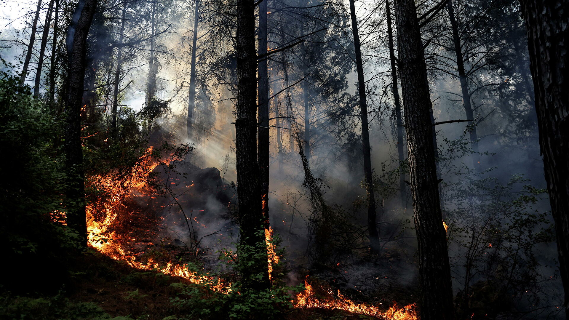
<svg viewBox="0 0 569 320"><path fill-rule="evenodd" d="M539 145L551 214L555 220L559 272L569 319L569 6L560 0L522 0L534 82Z"/></svg>

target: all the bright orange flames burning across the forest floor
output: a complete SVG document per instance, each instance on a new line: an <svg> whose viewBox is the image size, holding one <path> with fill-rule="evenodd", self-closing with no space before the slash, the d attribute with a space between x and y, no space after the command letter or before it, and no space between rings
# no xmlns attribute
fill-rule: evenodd
<svg viewBox="0 0 569 320"><path fill-rule="evenodd" d="M193 284L200 284L207 286L217 292L229 293L230 284L224 282L221 278L216 278L212 276L204 276L201 273L192 272L188 270L186 265L180 265L176 262L167 262L166 264L160 264L160 262L155 259L149 258L146 262L137 259L134 255L131 255L132 248L129 244L132 242L128 240L131 236L122 235L117 232L116 226L119 223L122 209L125 208L125 201L133 196L149 195L150 190L148 187L149 173L160 164L167 165L170 160L159 162L149 157L152 148L149 148L139 165L132 169L132 173L126 182L117 183L112 175L107 177L94 177L103 188L109 190L111 196L102 203L102 214L104 214L104 219L97 221L96 216L100 216L101 212L97 212L95 208L88 207L87 218L88 218L88 241L91 247L97 251L103 253L106 256L111 257L114 260L126 262L133 268L140 270L159 270L164 274L170 276L182 277L189 280ZM126 186L126 187L125 187ZM193 186L193 183L192 183ZM150 196L154 199L155 196ZM101 210L100 208L98 209ZM197 221L196 221L197 222ZM267 268L269 272L269 279L273 278L274 265L279 263L280 257L277 254L277 247L273 242L273 228L269 227L265 229L265 241L267 244ZM306 289L296 295L295 299L292 301L294 307L298 309L307 308L322 308L329 310L344 310L355 314L365 314L374 317L380 317L388 320L416 320L417 312L415 311L415 305L407 305L405 307L398 307L397 303L394 303L386 311L382 307L367 305L365 303L356 303L349 298L343 296L338 290L337 294L333 293L333 290L324 290L327 293L327 298L320 298L316 295L312 285L305 281Z"/></svg>

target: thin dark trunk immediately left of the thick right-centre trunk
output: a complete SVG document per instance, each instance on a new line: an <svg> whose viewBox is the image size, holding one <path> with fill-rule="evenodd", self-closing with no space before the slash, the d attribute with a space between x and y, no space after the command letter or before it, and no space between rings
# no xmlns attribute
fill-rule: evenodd
<svg viewBox="0 0 569 320"><path fill-rule="evenodd" d="M407 207L407 184L405 183L405 146L403 145L403 118L401 116L401 101L399 101L399 84L397 81L397 67L395 66L395 49L393 46L393 30L391 28L391 8L389 0L385 0L385 13L387 17L387 41L389 42L389 60L391 61L391 91L395 104L395 125L397 126L397 157L399 159L399 189L401 189L401 207Z"/></svg>

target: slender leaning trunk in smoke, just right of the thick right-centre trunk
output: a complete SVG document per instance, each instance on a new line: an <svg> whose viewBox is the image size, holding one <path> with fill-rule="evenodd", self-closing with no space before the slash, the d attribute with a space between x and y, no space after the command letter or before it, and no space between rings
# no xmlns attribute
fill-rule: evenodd
<svg viewBox="0 0 569 320"><path fill-rule="evenodd" d="M452 0L447 2L448 18L451 21L452 28L452 42L455 46L456 55L456 69L459 72L460 89L462 91L464 111L466 113L466 118L472 121L468 121L468 125L471 126L470 130L470 142L472 143L472 162L476 171L480 172L480 155L478 154L478 134L476 133L476 126L474 123L474 112L472 110L472 102L470 97L470 92L468 91L468 83L466 72L464 71L464 58L462 53L462 47L460 46L460 36L459 36L459 26L456 22L455 11L452 9Z"/></svg>

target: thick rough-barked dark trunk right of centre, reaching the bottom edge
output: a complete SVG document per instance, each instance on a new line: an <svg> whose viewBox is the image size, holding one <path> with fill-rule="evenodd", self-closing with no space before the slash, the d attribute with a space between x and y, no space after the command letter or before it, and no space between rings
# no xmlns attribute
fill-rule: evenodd
<svg viewBox="0 0 569 320"><path fill-rule="evenodd" d="M419 252L422 320L453 320L451 272L440 211L431 99L413 0L398 0L397 43Z"/></svg>

